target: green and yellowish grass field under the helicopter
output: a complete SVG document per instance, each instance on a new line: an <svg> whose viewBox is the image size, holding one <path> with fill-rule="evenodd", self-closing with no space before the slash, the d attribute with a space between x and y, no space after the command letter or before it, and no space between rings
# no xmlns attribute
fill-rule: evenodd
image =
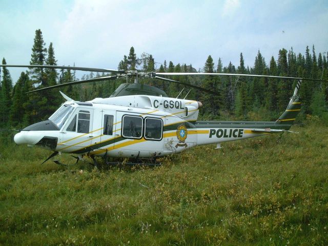
<svg viewBox="0 0 328 246"><path fill-rule="evenodd" d="M100 171L2 142L0 244L327 245L328 127L292 130Z"/></svg>

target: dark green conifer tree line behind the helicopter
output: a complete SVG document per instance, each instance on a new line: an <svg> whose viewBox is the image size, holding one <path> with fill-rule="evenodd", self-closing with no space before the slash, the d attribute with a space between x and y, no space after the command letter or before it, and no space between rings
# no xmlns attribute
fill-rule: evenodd
<svg viewBox="0 0 328 246"><path fill-rule="evenodd" d="M3 58L2 64L6 65ZM160 64L160 66L159 66ZM57 65L53 44L46 48L40 29L35 31L30 65ZM73 65L74 66L74 65ZM157 68L159 66L159 68ZM118 69L157 71L157 72L197 72L191 64L176 64L172 61L157 63L151 54L142 53L137 57L131 47L129 55L124 55L119 61ZM289 51L282 48L278 57L271 57L269 63L258 51L253 67L245 67L243 54L240 53L239 66L231 62L224 67L220 57L217 64L211 55L208 56L204 67L198 72L205 73L239 73L274 76L290 76L304 78L328 79L327 57L324 54L312 51L306 47L305 54L296 54L291 48ZM105 73L83 75L81 80L107 76ZM212 95L202 91L184 88L179 84L168 83L156 79L140 79L140 83L156 86L168 93L169 96L199 100L204 107L200 111L203 119L254 119L275 120L285 110L290 96L293 94L297 81L278 78L236 77L236 76L170 76L169 78L183 83L196 85L219 95ZM37 88L44 88L57 84L65 84L79 80L75 70L59 71L55 69L33 68L20 74L13 85L10 72L6 67L0 71L0 129L22 128L40 120L47 119L64 99L57 90L46 90L39 93L29 93ZM71 98L86 101L95 97L108 97L126 80L103 81L64 87L63 92ZM190 90L190 91L189 91ZM188 93L189 92L189 93ZM188 95L187 95L188 93ZM328 120L327 101L328 83L317 81L303 81L299 94L302 98L302 115L318 115Z"/></svg>

